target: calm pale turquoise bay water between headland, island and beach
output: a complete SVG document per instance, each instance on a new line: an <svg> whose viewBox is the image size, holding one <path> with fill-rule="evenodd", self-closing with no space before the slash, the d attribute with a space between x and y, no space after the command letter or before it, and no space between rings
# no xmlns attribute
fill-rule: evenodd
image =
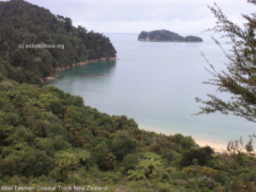
<svg viewBox="0 0 256 192"><path fill-rule="evenodd" d="M224 69L224 54L209 35L203 43L139 42L137 34L106 34L119 60L99 61L59 73L54 84L84 97L103 113L125 114L140 128L162 133L182 133L195 139L228 143L255 133L254 124L232 115L199 112L195 97L207 98L216 88L201 82L211 79L207 62ZM224 49L229 49L224 45ZM218 94L218 93L217 93ZM227 94L218 94L228 99Z"/></svg>

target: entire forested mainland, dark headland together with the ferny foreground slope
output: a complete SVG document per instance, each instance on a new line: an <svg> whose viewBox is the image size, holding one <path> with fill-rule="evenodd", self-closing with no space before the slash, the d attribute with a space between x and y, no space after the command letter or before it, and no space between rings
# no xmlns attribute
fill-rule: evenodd
<svg viewBox="0 0 256 192"><path fill-rule="evenodd" d="M192 137L143 131L125 115L100 113L81 96L39 86L57 67L115 57L109 38L22 0L0 2L0 14L1 191L255 189L256 160L237 148L215 154Z"/></svg>

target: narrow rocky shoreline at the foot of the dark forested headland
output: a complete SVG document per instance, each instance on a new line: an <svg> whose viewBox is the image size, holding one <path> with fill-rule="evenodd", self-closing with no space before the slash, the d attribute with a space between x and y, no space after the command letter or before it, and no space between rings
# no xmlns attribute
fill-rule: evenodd
<svg viewBox="0 0 256 192"><path fill-rule="evenodd" d="M105 58L104 57L104 58L101 58L101 59L95 59L95 60L88 60L88 61L73 63L71 66L67 66L67 67L55 67L54 68L54 70L55 70L54 74L51 75L51 76L42 78L41 82L42 82L42 84L45 84L50 80L58 79L61 76L56 75L55 73L58 73L58 72L61 72L61 71L64 71L64 70L67 70L67 69L70 69L70 68L73 68L73 67L84 66L84 65L87 65L89 63L97 62L97 61L116 61L116 60L119 60L119 58L118 57L110 57L110 58Z"/></svg>

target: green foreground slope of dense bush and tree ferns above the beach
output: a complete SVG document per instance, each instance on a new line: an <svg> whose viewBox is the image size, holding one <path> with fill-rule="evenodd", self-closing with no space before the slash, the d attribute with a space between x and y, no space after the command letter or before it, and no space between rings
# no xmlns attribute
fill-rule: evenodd
<svg viewBox="0 0 256 192"><path fill-rule="evenodd" d="M191 137L142 131L80 96L0 75L0 186L253 191L255 178L247 154L214 154Z"/></svg>

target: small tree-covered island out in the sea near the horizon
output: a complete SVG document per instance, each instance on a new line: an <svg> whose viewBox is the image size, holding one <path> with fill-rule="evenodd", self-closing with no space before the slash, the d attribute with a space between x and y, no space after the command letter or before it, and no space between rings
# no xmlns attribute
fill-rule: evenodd
<svg viewBox="0 0 256 192"><path fill-rule="evenodd" d="M167 30L155 30L152 32L141 32L137 38L139 41L163 41L163 42L202 42L203 39L195 36L183 38L175 32Z"/></svg>

